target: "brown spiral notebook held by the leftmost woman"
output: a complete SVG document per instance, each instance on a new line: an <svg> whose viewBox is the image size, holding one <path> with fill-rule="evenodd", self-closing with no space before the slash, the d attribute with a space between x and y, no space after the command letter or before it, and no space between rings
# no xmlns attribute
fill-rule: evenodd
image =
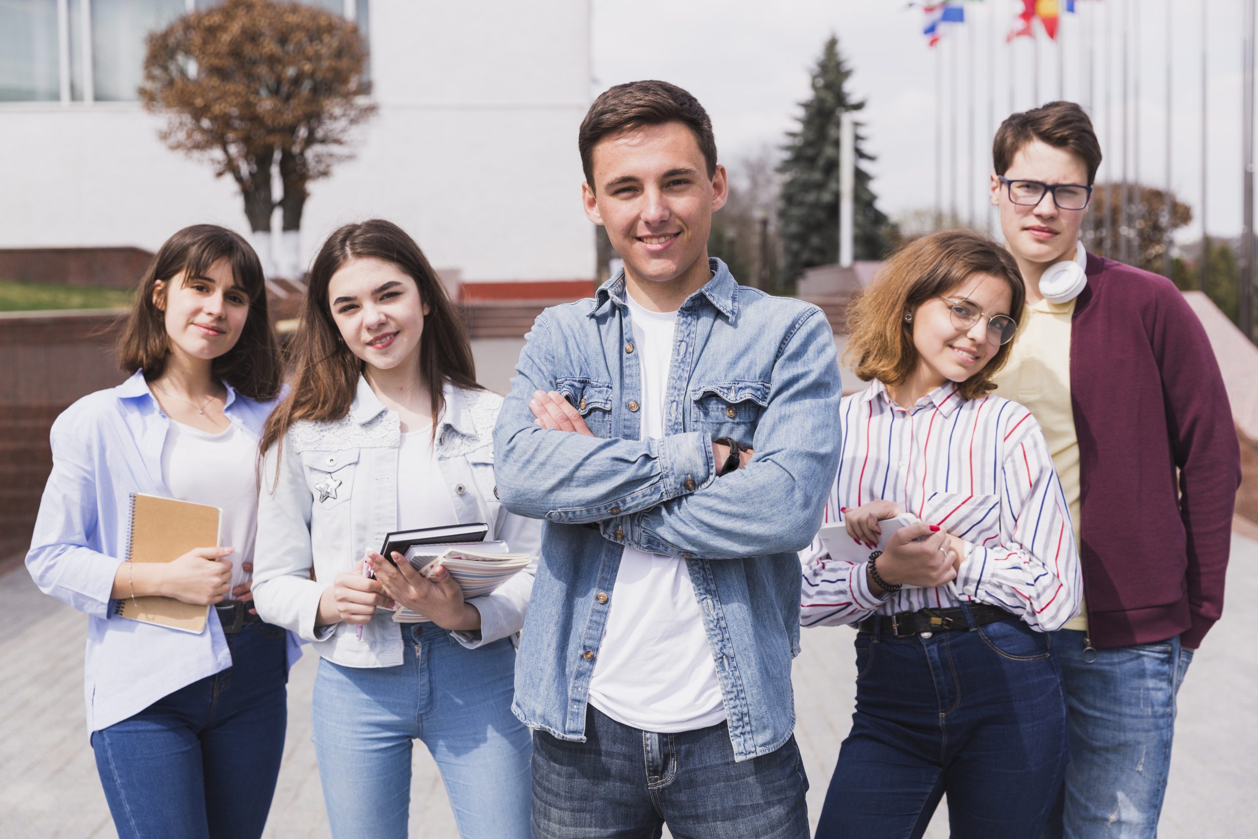
<svg viewBox="0 0 1258 839"><path fill-rule="evenodd" d="M131 493L131 540L127 543L127 560L170 562L194 547L214 547L219 543L221 517L223 511L218 507ZM205 630L210 608L153 595L133 600L122 597L118 600L116 614L146 624L200 634Z"/></svg>

